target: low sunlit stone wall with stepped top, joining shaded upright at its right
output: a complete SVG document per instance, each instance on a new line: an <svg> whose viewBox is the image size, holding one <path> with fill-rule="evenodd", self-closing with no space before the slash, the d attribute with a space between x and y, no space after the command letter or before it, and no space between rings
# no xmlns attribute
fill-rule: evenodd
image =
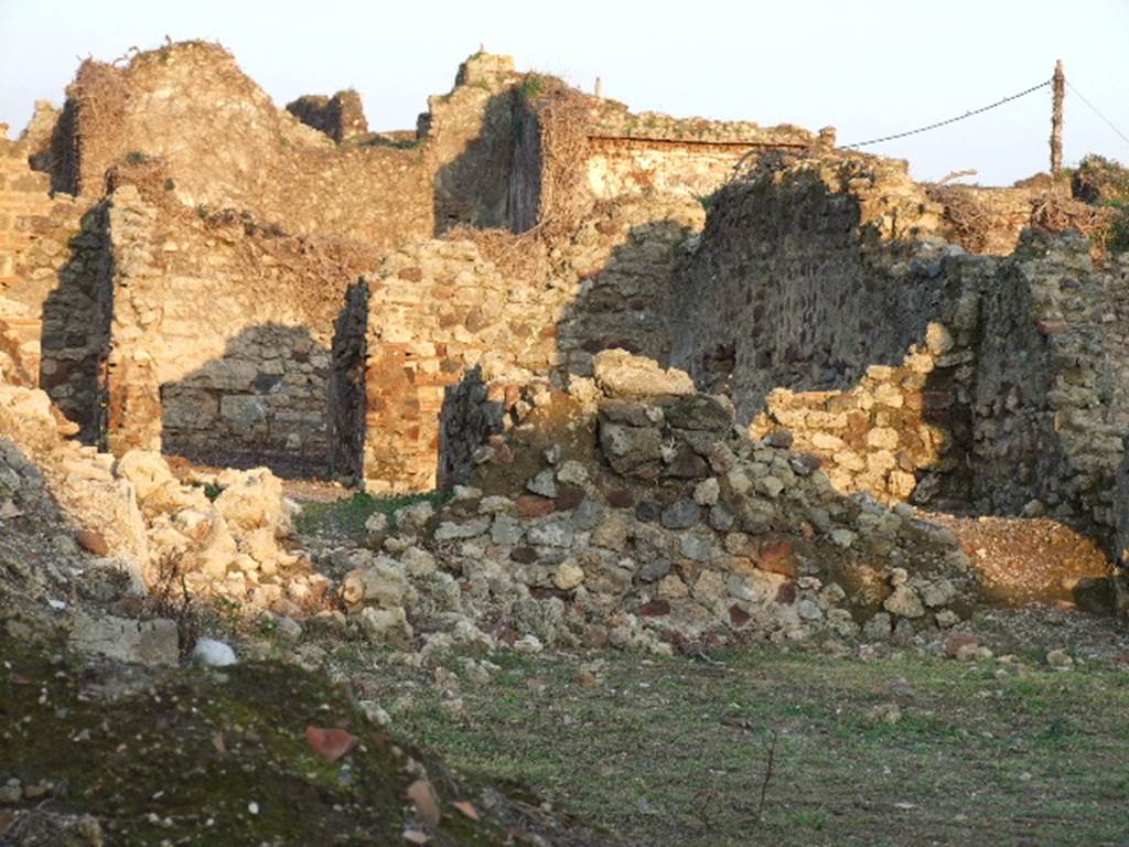
<svg viewBox="0 0 1129 847"><path fill-rule="evenodd" d="M867 366L849 387L772 390L750 431L819 456L837 490L867 491L887 504L966 504L978 306L989 270L969 256L938 261L929 247L898 263L898 274L943 280L921 339L896 365Z"/></svg>

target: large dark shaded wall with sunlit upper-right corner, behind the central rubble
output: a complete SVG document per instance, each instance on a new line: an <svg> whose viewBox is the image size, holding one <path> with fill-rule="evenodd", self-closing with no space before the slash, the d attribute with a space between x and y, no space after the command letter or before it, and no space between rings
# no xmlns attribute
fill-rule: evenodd
<svg viewBox="0 0 1129 847"><path fill-rule="evenodd" d="M730 184L675 289L673 364L728 382L744 422L774 387L901 365L939 300L942 256L894 272L895 253L940 225L901 163L806 158Z"/></svg>

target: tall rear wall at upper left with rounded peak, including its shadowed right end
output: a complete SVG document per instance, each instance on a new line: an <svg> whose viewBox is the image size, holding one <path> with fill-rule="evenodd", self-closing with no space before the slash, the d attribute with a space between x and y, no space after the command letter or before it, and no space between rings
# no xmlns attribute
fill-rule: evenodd
<svg viewBox="0 0 1129 847"><path fill-rule="evenodd" d="M471 56L406 137L361 132L356 93L278 110L212 44L139 53L125 67L87 61L55 128L52 173L62 190L98 197L116 163L160 159L185 206L380 246L461 225L510 228L522 79L508 56Z"/></svg>

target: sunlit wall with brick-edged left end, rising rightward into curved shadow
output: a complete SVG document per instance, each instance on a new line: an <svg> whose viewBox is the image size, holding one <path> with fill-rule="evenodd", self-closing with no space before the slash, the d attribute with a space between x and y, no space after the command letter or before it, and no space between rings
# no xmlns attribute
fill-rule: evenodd
<svg viewBox="0 0 1129 847"><path fill-rule="evenodd" d="M448 387L487 358L525 372L514 386L551 370L590 375L593 356L609 347L666 360L679 246L703 218L693 199L619 203L587 218L532 272L504 273L471 242L421 242L390 254L368 278L369 490L428 490L446 479L440 433L476 433L471 418L490 417L456 414L455 407L476 404L448 396ZM520 241L511 248L544 250Z"/></svg>

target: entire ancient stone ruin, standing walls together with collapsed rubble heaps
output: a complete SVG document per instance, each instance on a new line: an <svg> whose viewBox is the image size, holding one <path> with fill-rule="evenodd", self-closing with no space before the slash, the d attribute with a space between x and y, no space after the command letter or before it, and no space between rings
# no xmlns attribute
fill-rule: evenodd
<svg viewBox="0 0 1129 847"><path fill-rule="evenodd" d="M1068 192L485 53L371 132L201 42L84 62L0 178L6 414L60 486L129 487L103 552L142 583L174 551L396 644L905 636L983 600L944 516L997 515L1104 549L1054 591L1129 605L1129 259ZM279 549L275 475L455 495L322 562Z"/></svg>

